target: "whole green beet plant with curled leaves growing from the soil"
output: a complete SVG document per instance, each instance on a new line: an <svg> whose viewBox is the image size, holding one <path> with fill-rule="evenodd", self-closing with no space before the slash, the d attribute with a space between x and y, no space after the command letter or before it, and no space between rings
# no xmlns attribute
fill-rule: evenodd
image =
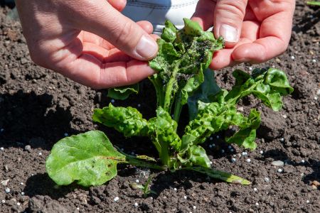
<svg viewBox="0 0 320 213"><path fill-rule="evenodd" d="M157 73L149 80L157 97L156 117L146 120L133 107L95 109L93 121L114 128L125 137L148 137L159 158L132 156L117 151L105 133L89 131L63 138L53 146L46 160L46 170L58 185L102 185L117 175L117 164L137 165L156 170L193 170L211 178L249 185L248 180L211 168L201 143L211 134L238 126L238 132L226 143L256 148L256 130L260 112L252 109L249 116L237 111L242 97L254 95L275 111L282 108L282 96L293 91L287 76L277 69L257 69L252 75L235 70L235 85L229 92L215 84L214 74L207 70L215 50L223 48L223 39L215 39L198 23L184 19L178 30L171 22L158 40L159 53L149 62ZM125 99L136 86L110 89L110 96ZM188 104L190 122L183 136L177 133L183 105ZM173 114L173 116L171 116Z"/></svg>

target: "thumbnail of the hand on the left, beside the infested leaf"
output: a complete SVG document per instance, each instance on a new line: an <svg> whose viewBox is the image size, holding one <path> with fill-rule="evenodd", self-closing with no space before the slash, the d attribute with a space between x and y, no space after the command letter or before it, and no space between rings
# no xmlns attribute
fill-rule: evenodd
<svg viewBox="0 0 320 213"><path fill-rule="evenodd" d="M156 55L158 45L151 37L142 35L136 47L136 51L142 58L150 59Z"/></svg>

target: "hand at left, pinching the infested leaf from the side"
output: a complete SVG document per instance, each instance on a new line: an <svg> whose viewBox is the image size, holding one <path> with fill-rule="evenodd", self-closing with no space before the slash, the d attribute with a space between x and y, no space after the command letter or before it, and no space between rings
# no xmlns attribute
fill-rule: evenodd
<svg viewBox="0 0 320 213"><path fill-rule="evenodd" d="M95 89L154 74L151 23L123 16L125 0L16 0L31 59ZM138 60L135 60L138 59Z"/></svg>

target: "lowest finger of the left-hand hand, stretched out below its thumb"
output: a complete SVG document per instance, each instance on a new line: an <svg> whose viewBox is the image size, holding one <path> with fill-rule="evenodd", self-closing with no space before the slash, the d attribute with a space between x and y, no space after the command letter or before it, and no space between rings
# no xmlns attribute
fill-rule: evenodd
<svg viewBox="0 0 320 213"><path fill-rule="evenodd" d="M81 41L75 40L65 49L69 53L68 57L54 64L50 63L51 67L48 68L94 89L134 84L154 74L147 62L102 62L92 54L81 52L82 48Z"/></svg>

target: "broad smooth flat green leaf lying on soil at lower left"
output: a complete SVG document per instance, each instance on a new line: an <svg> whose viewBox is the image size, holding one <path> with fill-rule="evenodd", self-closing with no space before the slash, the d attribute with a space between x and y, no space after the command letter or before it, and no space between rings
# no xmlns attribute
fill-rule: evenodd
<svg viewBox="0 0 320 213"><path fill-rule="evenodd" d="M105 133L88 131L55 143L46 170L58 185L102 185L117 175L117 163L125 156L114 150Z"/></svg>

